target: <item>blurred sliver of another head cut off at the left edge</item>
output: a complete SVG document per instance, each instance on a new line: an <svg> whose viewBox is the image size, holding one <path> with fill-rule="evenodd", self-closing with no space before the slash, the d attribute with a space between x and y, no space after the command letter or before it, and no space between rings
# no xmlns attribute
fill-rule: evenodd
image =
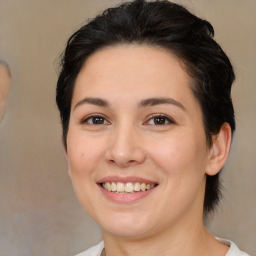
<svg viewBox="0 0 256 256"><path fill-rule="evenodd" d="M5 107L8 92L11 84L11 72L8 64L0 60L0 120L2 119Z"/></svg>

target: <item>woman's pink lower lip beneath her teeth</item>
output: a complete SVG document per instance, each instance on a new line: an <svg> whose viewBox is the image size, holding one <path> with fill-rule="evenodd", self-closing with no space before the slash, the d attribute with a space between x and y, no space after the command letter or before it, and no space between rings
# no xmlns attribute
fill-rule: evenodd
<svg viewBox="0 0 256 256"><path fill-rule="evenodd" d="M102 193L111 201L117 202L117 203L132 203L135 201L138 201L140 199L143 199L147 197L152 191L155 190L155 188L146 190L146 191L140 191L135 193L127 193L127 194L119 194L110 192L106 189L104 189L101 185L98 185L101 189Z"/></svg>

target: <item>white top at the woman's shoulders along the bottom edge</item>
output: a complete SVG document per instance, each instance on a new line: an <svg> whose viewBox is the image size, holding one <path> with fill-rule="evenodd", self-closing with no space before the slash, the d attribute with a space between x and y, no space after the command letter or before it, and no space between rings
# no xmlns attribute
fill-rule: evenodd
<svg viewBox="0 0 256 256"><path fill-rule="evenodd" d="M221 238L217 238L217 239L220 242L230 246L226 256L249 256L247 253L240 251L232 241L224 240ZM104 242L101 241L96 246L93 246L90 249L86 250L85 252L77 254L76 256L100 256L103 248L104 248Z"/></svg>

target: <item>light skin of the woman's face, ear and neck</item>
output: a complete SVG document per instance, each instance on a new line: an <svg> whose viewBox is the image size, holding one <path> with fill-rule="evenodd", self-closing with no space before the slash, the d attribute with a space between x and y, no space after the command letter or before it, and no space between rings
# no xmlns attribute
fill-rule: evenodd
<svg viewBox="0 0 256 256"><path fill-rule="evenodd" d="M69 174L101 227L107 256L228 250L204 228L203 199L205 175L227 158L230 127L224 124L208 147L190 84L177 58L145 45L104 48L78 74Z"/></svg>

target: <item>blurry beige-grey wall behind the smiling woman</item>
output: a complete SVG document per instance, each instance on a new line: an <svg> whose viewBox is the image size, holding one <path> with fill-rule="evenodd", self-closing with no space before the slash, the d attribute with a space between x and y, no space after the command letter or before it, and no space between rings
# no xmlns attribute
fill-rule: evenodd
<svg viewBox="0 0 256 256"><path fill-rule="evenodd" d="M113 0L0 0L0 58L12 88L0 126L0 255L73 255L100 240L67 175L55 106L56 59L68 36ZM224 201L209 224L256 255L256 1L179 1L207 18L231 57L237 132Z"/></svg>

